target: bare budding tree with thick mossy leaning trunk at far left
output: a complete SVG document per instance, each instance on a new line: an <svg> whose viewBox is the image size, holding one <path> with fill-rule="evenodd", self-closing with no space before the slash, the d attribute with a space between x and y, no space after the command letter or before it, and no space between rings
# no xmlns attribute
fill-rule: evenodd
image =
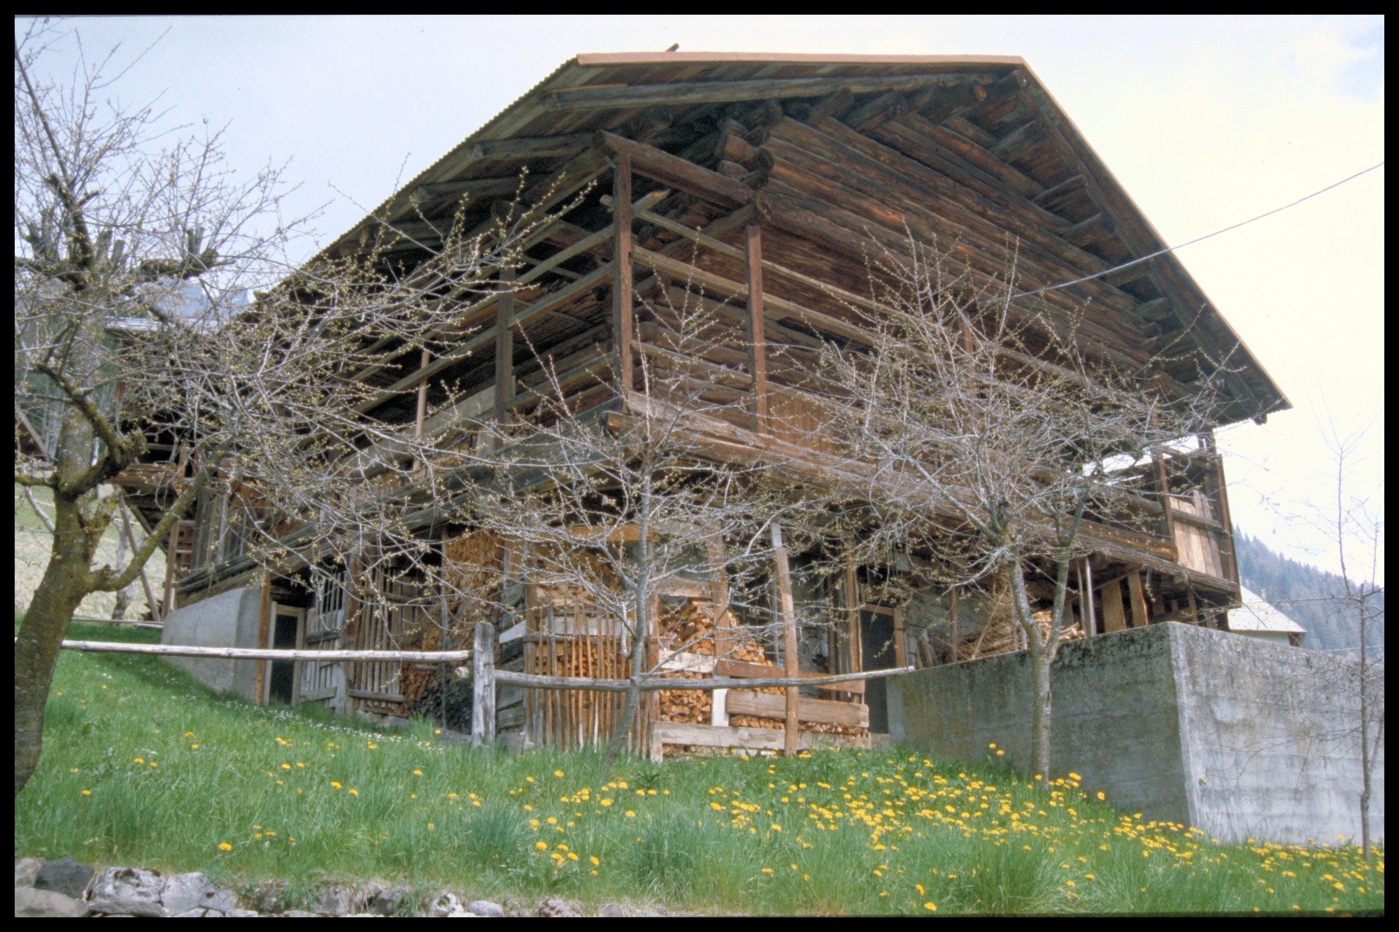
<svg viewBox="0 0 1399 932"><path fill-rule="evenodd" d="M253 565L344 565L367 542L421 560L407 486L435 448L364 416L385 395L367 374L457 334L462 302L509 287L497 273L541 216L466 230L459 213L410 271L385 259L393 227L292 271L304 221L278 214L281 172L241 176L221 133L112 104L111 56L84 59L71 87L48 80L45 53L73 41L35 25L14 56L15 483L53 493L50 558L15 640L17 795L73 612L129 585L196 504L229 518L213 546ZM99 565L119 500L98 487L139 463L161 466L147 533Z"/></svg>

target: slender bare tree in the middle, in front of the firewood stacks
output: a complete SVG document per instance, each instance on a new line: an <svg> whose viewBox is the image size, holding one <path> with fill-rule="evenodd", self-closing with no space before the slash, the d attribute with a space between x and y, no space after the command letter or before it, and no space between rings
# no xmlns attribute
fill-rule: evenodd
<svg viewBox="0 0 1399 932"><path fill-rule="evenodd" d="M771 526L785 508L768 481L772 463L725 460L698 441L706 423L748 418L744 395L732 388L744 381L741 372L716 372L702 358L720 339L709 332L702 302L660 284L637 297L648 341L635 329L620 334L631 339L637 365L613 372L614 383L631 385L611 403L578 410L583 396L551 358L539 358L536 400L513 421L480 424L498 452L476 458L488 477L470 505L476 526L520 554L525 582L540 598L586 606L599 620L592 637L620 635L627 665L617 673L630 686L604 768L631 737L645 680L701 640L722 658L737 641L767 634L757 626L727 640L713 628L667 640L662 598L706 591L718 623L743 593L762 591L774 558ZM718 579L723 585L711 589Z"/></svg>

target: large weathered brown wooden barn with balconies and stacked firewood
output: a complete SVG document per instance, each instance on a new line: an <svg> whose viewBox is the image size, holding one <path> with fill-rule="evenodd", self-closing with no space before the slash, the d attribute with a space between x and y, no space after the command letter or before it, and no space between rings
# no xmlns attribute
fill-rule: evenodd
<svg viewBox="0 0 1399 932"><path fill-rule="evenodd" d="M824 341L869 337L853 311L870 305L872 243L907 249L911 235L956 243L972 277L995 276L1013 239L1027 288L1081 278L1046 292L1048 312L1077 319L1080 339L1102 357L1140 364L1186 347L1163 379L1182 392L1202 374L1220 379L1217 424L1260 423L1288 407L1174 255L1114 270L1165 243L1017 57L579 55L326 255L354 255L392 234L385 260L411 269L455 223L487 230L519 202L564 210L530 236L511 290L463 301L459 340L432 353L414 347L396 371L364 375L379 389L367 417L418 432L446 431L455 418L527 423L546 382L578 417L627 414L639 403L642 364L686 351L662 309L683 291L712 323L690 362L712 372L727 406L697 432L713 449L779 449L797 465L806 451L814 462L831 449L813 431L810 367ZM1077 637L1163 620L1219 624L1237 605L1224 473L1207 432L1200 449L1144 477L1156 502L1146 519L1086 522ZM157 488L150 476L129 477L137 505ZM236 592L242 607L228 610L248 614L256 647L470 647L478 613L424 592L411 575L351 561L346 572L358 575L340 584L299 585L295 567L269 577L239 543L239 514L256 519L248 501L201 502L172 537L166 607L178 610L168 628L231 605ZM520 547L438 523L431 509L416 521L459 591L492 593L499 669L630 676L617 619L532 579ZM800 554L793 565L802 577ZM799 578L797 596L830 614L825 628L785 641L747 634L723 607L722 579L677 582L662 593L666 620L646 635L649 656L688 677L814 676L1017 647L986 593L925 589L891 603L876 585L886 577L851 565ZM364 591L389 607L369 612L355 595ZM663 656L667 638L687 645L679 658ZM436 665L245 663L256 663L248 691L262 700L406 716L446 715L469 693ZM604 740L620 702L611 693L502 686L495 730L513 743L575 747ZM781 689L665 691L644 707L635 744L652 754L781 747L783 702ZM879 680L803 690L797 715L807 744L867 744L887 730Z"/></svg>

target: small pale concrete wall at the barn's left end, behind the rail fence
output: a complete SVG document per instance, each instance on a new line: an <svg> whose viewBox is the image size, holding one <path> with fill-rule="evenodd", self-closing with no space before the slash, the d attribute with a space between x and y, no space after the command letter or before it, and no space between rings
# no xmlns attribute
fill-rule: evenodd
<svg viewBox="0 0 1399 932"><path fill-rule="evenodd" d="M186 647L267 647L257 642L262 624L262 586L231 589L165 616L161 644ZM172 656L171 663L189 670L196 679L255 702L260 661L222 661L203 656Z"/></svg>

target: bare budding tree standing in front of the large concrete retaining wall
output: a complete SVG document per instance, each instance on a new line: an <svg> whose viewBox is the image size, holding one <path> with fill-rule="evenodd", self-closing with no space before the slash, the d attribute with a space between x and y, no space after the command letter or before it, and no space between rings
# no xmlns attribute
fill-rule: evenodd
<svg viewBox="0 0 1399 932"><path fill-rule="evenodd" d="M1209 427L1206 404L1016 298L1013 255L999 283L956 269L921 245L880 256L873 346L827 351L842 439L867 476L839 493L867 502L859 533L881 558L922 550L944 586L1009 592L1031 659L1031 767L1048 779L1049 670L1086 522L1158 521L1146 467Z"/></svg>

